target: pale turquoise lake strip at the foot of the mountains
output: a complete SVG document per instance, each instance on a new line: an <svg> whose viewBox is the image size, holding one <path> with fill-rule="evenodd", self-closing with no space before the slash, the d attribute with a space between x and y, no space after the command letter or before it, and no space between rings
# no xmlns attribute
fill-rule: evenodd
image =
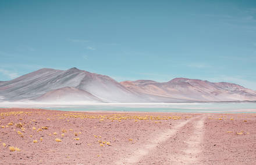
<svg viewBox="0 0 256 165"><path fill-rule="evenodd" d="M38 107L37 107L38 108ZM40 107L61 111L256 113L256 102L101 104Z"/></svg>

